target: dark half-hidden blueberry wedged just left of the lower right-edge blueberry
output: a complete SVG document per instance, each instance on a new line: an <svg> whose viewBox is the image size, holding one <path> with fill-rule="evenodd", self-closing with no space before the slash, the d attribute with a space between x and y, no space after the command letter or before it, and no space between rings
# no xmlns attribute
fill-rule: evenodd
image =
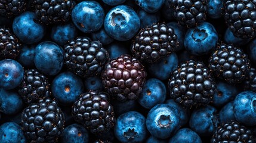
<svg viewBox="0 0 256 143"><path fill-rule="evenodd" d="M218 113L220 115L220 123L227 123L229 121L236 120L233 103L234 101L231 101L221 108L220 112Z"/></svg>

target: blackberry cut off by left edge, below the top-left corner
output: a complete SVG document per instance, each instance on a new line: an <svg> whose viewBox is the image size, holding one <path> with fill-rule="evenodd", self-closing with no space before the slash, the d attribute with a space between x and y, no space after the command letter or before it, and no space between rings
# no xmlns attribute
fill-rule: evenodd
<svg viewBox="0 0 256 143"><path fill-rule="evenodd" d="M15 59L20 54L21 43L10 29L0 28L0 60Z"/></svg>

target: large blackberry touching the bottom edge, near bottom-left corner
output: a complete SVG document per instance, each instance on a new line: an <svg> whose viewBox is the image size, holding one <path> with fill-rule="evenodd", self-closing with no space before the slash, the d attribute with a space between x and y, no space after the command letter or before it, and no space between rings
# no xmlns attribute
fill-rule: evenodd
<svg viewBox="0 0 256 143"><path fill-rule="evenodd" d="M29 142L57 142L63 130L64 114L56 101L46 98L24 109L21 126Z"/></svg>

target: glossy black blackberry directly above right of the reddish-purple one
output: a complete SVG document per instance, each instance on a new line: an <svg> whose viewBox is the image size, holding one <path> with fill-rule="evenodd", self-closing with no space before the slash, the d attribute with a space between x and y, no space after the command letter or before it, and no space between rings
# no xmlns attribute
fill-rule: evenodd
<svg viewBox="0 0 256 143"><path fill-rule="evenodd" d="M131 52L141 61L154 63L177 48L177 35L165 23L141 29L131 45Z"/></svg>

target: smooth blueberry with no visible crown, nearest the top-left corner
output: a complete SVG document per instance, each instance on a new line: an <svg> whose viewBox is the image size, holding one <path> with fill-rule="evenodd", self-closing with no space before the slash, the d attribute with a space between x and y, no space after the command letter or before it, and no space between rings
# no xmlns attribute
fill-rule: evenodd
<svg viewBox="0 0 256 143"><path fill-rule="evenodd" d="M14 34L26 44L37 43L45 35L45 26L37 21L35 13L26 11L17 17L13 21Z"/></svg>

